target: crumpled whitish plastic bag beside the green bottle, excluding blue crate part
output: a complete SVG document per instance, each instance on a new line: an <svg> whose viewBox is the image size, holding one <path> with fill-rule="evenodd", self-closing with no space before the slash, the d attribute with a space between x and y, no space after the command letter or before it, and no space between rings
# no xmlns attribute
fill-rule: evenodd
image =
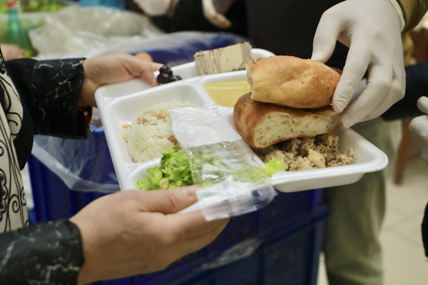
<svg viewBox="0 0 428 285"><path fill-rule="evenodd" d="M41 54L71 54L161 33L144 15L109 7L73 5L48 15L45 24L29 35Z"/></svg>

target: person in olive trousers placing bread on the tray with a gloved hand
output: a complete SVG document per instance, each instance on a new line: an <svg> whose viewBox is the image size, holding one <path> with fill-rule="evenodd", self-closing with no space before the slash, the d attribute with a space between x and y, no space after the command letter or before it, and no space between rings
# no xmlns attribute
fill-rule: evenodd
<svg viewBox="0 0 428 285"><path fill-rule="evenodd" d="M153 2L135 1L143 10ZM166 31L176 31L176 27L201 30L204 25L194 23L206 22L232 31L245 23L242 35L248 35L256 47L342 69L333 109L342 112L345 127L352 127L393 160L392 130L399 124L387 123L381 115L391 106L399 106L395 103L404 96L404 66L410 64L412 48L407 32L427 11L427 0L164 2L168 5L152 15L166 15L154 19ZM199 19L195 19L196 13ZM238 15L245 15L244 21L236 21ZM355 94L355 100L359 85L363 85L362 92ZM331 285L383 284L378 235L385 195L383 171L366 173L352 185L326 189L325 200L332 211L324 253Z"/></svg>

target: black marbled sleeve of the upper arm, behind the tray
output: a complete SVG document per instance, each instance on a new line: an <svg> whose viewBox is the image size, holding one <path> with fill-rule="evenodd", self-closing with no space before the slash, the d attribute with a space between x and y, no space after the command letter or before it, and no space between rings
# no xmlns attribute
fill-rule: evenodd
<svg viewBox="0 0 428 285"><path fill-rule="evenodd" d="M78 110L83 84L83 59L6 62L9 74L24 99L35 134L86 138L87 126ZM91 108L87 111L91 115Z"/></svg>

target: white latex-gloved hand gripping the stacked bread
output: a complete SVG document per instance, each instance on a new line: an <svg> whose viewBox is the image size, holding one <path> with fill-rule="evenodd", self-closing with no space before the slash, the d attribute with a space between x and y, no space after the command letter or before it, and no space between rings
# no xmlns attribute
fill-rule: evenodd
<svg viewBox="0 0 428 285"><path fill-rule="evenodd" d="M327 62L336 40L349 47L332 103L336 112L343 111L342 123L346 128L382 115L404 97L401 43L404 20L399 15L399 6L396 10L391 3L389 0L346 0L324 12L318 24L313 60ZM369 72L366 88L347 107L366 70Z"/></svg>

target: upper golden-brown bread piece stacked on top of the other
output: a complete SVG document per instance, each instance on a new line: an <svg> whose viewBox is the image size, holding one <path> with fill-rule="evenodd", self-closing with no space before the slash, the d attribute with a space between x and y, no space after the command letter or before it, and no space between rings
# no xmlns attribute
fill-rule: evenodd
<svg viewBox="0 0 428 285"><path fill-rule="evenodd" d="M251 99L292 108L331 104L340 74L321 62L271 56L247 63Z"/></svg>

